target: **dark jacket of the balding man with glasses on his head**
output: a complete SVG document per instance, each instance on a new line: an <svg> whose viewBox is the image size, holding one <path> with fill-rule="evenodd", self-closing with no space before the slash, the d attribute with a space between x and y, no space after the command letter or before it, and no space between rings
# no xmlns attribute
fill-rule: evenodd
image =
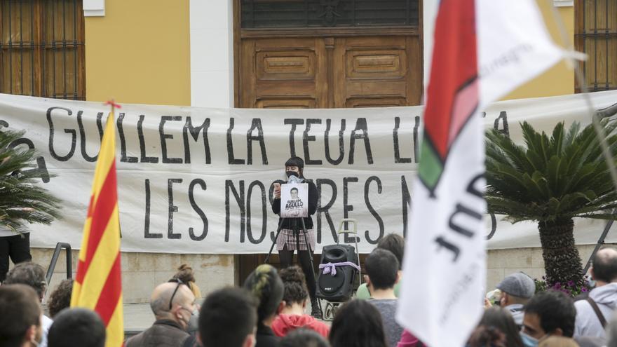
<svg viewBox="0 0 617 347"><path fill-rule="evenodd" d="M125 347L177 347L189 337L177 322L157 320L148 329L126 340Z"/></svg>

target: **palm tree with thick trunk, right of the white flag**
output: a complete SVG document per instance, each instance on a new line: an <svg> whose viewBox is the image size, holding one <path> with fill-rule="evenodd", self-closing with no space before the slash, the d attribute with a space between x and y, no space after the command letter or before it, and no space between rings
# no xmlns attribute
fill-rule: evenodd
<svg viewBox="0 0 617 347"><path fill-rule="evenodd" d="M600 121L613 158L617 122ZM569 130L559 123L548 137L525 122L524 146L496 130L487 132L487 205L510 222L538 222L549 284L583 283L581 257L574 245L574 217L617 219L617 192L590 124Z"/></svg>

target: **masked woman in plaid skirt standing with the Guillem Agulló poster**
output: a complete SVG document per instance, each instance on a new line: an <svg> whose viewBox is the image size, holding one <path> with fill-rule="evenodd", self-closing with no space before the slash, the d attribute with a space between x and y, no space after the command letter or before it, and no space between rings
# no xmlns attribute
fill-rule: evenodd
<svg viewBox="0 0 617 347"><path fill-rule="evenodd" d="M311 218L311 215L314 215L317 210L319 193L317 191L317 186L313 182L306 180L303 173L304 161L302 158L294 156L285 162L285 175L287 176L287 181L277 181L273 183L274 202L272 203L272 211L280 216L278 221L279 224L281 219L284 219L280 228L280 234L276 239L276 250L278 250L281 268L291 266L294 251L298 251L298 262L304 272L304 275L306 276L308 294L311 297L311 315L315 318L322 318L323 313L319 308L319 304L315 296L316 280L315 273L313 273L313 266L311 266L311 257L313 254L308 253L309 249L310 252L315 250L315 231L313 231L313 219ZM299 218L290 218L285 215L285 210L287 210L287 212L290 211L290 208L287 207L287 201L285 202L285 205L283 205L283 209L281 209L281 183L297 183L297 186L300 186L301 184L308 185L308 198L306 200L299 198L297 195L299 192L297 190L292 191L294 188L291 188L290 191L287 192L289 194L288 196L290 197L290 201L301 200L302 208L299 209L300 211L305 208L308 210L307 217L304 217L306 238L302 232L302 224ZM295 199L293 199L294 196ZM294 203L290 204L293 205ZM283 213L281 213L281 210L283 210Z"/></svg>

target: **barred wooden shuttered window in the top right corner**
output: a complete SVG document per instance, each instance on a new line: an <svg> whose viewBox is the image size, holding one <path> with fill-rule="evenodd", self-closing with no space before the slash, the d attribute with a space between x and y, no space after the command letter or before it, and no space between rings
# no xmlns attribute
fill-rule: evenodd
<svg viewBox="0 0 617 347"><path fill-rule="evenodd" d="M576 0L576 50L590 91L617 89L617 0ZM576 91L581 92L576 83Z"/></svg>

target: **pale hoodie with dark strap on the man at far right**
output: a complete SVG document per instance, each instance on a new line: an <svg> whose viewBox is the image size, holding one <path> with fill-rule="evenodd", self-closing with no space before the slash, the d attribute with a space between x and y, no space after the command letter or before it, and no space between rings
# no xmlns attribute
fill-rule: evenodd
<svg viewBox="0 0 617 347"><path fill-rule="evenodd" d="M613 316L613 311L617 308L617 283L597 287L589 292L589 297L595 301L602 315L604 315L604 319L608 322ZM602 324L586 300L576 301L574 307L576 307L574 337L605 337Z"/></svg>

